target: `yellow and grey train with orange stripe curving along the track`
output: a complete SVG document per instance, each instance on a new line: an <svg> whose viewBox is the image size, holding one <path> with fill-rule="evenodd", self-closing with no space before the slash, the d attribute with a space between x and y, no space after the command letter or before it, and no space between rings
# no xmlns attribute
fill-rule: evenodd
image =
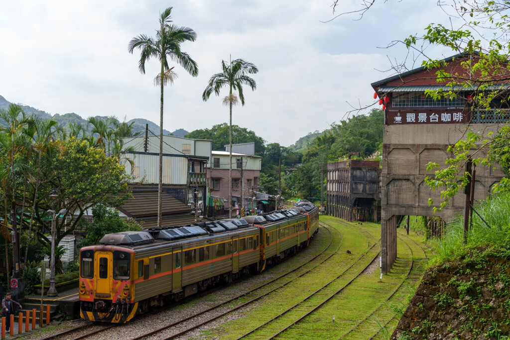
<svg viewBox="0 0 510 340"><path fill-rule="evenodd" d="M217 284L264 271L307 247L319 210L294 207L240 219L106 234L80 249L80 315L125 323Z"/></svg>

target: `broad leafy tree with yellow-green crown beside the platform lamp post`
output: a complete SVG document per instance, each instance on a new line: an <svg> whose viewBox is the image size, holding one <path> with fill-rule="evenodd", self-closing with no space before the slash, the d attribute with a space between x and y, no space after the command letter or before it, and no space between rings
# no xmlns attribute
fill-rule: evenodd
<svg viewBox="0 0 510 340"><path fill-rule="evenodd" d="M53 188L61 193L57 210L67 210L56 221L57 244L73 232L88 209L98 204L119 206L131 197L127 187L130 176L117 159L76 138L62 142L61 151L41 164L41 178L39 193L30 195L29 202L35 206L34 222L41 227L37 236L45 243L49 243L44 232L46 211L53 209L46 197Z"/></svg>

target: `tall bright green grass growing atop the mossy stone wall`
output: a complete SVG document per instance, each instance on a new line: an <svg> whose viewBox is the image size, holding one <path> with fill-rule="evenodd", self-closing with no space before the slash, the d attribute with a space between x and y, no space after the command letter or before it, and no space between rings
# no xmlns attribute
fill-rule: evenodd
<svg viewBox="0 0 510 340"><path fill-rule="evenodd" d="M430 265L439 265L466 253L468 249L479 247L506 247L510 240L510 194L501 194L482 201L475 210L487 222L487 226L474 212L473 225L467 234L467 244L463 244L464 218L459 216L446 226L443 240L435 244L436 256Z"/></svg>

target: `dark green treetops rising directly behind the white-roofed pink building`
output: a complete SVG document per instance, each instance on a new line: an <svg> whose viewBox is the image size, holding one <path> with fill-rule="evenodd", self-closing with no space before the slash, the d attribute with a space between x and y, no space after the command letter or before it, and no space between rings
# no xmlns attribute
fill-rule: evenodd
<svg viewBox="0 0 510 340"><path fill-rule="evenodd" d="M210 139L212 140L212 147L215 151L224 151L225 145L229 144L228 124L216 124L213 127L198 129L190 132L185 136L186 138L195 139ZM238 125L232 125L232 144L239 143L255 143L255 155L263 156L265 151L265 140L257 136L252 130Z"/></svg>

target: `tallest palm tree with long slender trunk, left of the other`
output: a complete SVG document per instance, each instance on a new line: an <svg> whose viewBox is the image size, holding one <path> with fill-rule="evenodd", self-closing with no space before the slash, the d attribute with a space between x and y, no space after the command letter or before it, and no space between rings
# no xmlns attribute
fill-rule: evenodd
<svg viewBox="0 0 510 340"><path fill-rule="evenodd" d="M168 66L168 58L184 67L192 76L198 75L198 66L191 57L181 50L181 43L195 41L196 33L189 27L177 27L171 20L172 7L168 7L160 13L160 29L156 31L156 38L144 34L133 38L128 46L129 53L135 48L141 50L138 68L145 73L145 62L151 58L157 58L161 62L161 72L156 76L155 85L161 86L160 106L160 150L159 150L159 186L158 186L158 227L161 227L161 198L163 193L163 88L172 84L176 74L173 67Z"/></svg>

